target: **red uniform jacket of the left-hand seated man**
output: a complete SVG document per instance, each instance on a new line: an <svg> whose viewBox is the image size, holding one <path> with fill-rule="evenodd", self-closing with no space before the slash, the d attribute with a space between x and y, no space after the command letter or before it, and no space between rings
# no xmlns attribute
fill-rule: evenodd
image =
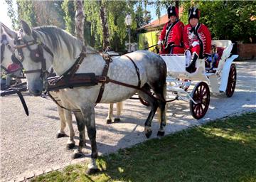
<svg viewBox="0 0 256 182"><path fill-rule="evenodd" d="M165 49L170 45L182 45L183 28L184 24L181 21L176 21L174 23L168 21L164 25L161 35L159 36L159 40L163 41L163 47Z"/></svg>

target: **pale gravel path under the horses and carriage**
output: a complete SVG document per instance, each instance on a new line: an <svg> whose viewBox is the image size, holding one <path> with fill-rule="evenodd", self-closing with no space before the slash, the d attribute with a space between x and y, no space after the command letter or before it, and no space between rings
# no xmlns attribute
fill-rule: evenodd
<svg viewBox="0 0 256 182"><path fill-rule="evenodd" d="M238 82L235 94L231 98L213 95L210 107L203 119L191 117L187 102L171 102L168 105L166 134L186 129L209 120L227 117L232 114L256 111L256 62L237 62ZM16 95L1 97L1 180L21 181L53 169L62 168L70 163L85 161L90 157L90 144L87 141L85 157L72 160L73 151L65 149L68 137L56 139L59 129L59 117L55 104L42 97L24 94L30 112L23 112L21 102ZM122 122L105 124L108 105L96 106L97 146L100 154L117 151L146 140L144 121L149 109L142 107L137 100L124 102ZM78 129L73 117L75 141L78 144ZM156 118L156 117L155 117ZM159 124L154 119L153 134L156 137ZM68 129L66 129L68 134Z"/></svg>

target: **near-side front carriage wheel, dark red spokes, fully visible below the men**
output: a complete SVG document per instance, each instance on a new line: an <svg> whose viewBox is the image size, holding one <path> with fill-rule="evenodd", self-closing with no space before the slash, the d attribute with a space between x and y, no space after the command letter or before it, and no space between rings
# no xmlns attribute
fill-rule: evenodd
<svg viewBox="0 0 256 182"><path fill-rule="evenodd" d="M191 97L197 104L190 101L191 114L195 119L201 119L210 105L210 90L206 82L198 82L191 92Z"/></svg>

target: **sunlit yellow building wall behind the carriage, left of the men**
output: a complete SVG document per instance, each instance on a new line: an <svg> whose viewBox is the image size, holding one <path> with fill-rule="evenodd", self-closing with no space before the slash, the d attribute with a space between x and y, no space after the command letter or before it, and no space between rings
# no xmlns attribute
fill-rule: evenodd
<svg viewBox="0 0 256 182"><path fill-rule="evenodd" d="M159 31L150 31L146 33L140 33L139 34L139 50L142 50L144 48L148 48L152 45L156 45L158 41L158 36L156 35L159 33ZM153 48L149 48L149 50L153 51Z"/></svg>

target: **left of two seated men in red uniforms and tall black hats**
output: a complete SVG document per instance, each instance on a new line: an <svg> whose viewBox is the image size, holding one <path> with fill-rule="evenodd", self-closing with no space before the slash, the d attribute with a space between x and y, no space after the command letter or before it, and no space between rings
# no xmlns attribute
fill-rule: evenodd
<svg viewBox="0 0 256 182"><path fill-rule="evenodd" d="M164 25L159 36L160 54L183 54L182 33L184 24L178 21L178 7L170 6L167 9L167 14L169 21Z"/></svg>

